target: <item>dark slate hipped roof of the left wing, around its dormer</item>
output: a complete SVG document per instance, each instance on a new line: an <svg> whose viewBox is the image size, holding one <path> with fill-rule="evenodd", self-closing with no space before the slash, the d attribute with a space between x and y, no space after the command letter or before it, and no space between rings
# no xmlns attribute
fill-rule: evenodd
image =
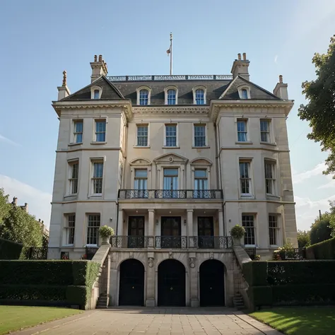
<svg viewBox="0 0 335 335"><path fill-rule="evenodd" d="M99 86L102 88L102 95L100 100L121 100L124 99L122 93L111 83L105 76L101 76L90 85L81 88L77 92L69 95L68 97L62 99L61 101L78 101L78 100L90 100L91 93L90 89L94 86Z"/></svg>

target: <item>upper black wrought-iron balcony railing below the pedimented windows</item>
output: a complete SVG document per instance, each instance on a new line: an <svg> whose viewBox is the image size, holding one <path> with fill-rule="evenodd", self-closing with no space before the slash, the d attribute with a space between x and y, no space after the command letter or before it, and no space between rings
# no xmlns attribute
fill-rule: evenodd
<svg viewBox="0 0 335 335"><path fill-rule="evenodd" d="M119 189L119 199L223 199L221 189Z"/></svg>

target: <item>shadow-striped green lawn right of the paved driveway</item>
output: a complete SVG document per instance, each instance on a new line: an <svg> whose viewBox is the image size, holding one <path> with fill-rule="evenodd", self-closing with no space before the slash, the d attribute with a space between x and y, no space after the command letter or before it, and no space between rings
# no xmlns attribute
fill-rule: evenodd
<svg viewBox="0 0 335 335"><path fill-rule="evenodd" d="M335 307L278 307L250 316L287 335L335 334Z"/></svg>

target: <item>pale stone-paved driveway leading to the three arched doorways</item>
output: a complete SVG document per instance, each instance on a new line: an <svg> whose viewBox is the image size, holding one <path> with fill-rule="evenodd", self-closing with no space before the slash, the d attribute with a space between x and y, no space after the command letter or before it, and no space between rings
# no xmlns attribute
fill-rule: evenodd
<svg viewBox="0 0 335 335"><path fill-rule="evenodd" d="M18 331L18 335L280 335L237 312L220 308L114 308L93 310Z"/></svg>

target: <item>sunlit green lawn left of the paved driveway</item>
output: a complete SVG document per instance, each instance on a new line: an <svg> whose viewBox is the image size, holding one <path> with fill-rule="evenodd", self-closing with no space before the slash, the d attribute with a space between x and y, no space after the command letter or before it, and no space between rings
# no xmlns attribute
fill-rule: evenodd
<svg viewBox="0 0 335 335"><path fill-rule="evenodd" d="M0 306L0 335L81 312L58 307Z"/></svg>

